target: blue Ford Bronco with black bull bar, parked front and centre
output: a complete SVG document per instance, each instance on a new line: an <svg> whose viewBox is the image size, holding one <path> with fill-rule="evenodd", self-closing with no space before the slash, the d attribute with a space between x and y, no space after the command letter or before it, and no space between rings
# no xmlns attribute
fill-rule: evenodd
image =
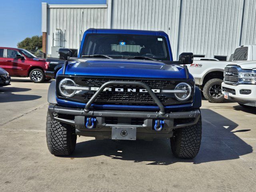
<svg viewBox="0 0 256 192"><path fill-rule="evenodd" d="M202 135L201 93L186 65L172 60L162 31L88 29L78 57L65 60L48 90L46 139L54 155L70 155L76 137L170 138L173 154L194 158Z"/></svg>

